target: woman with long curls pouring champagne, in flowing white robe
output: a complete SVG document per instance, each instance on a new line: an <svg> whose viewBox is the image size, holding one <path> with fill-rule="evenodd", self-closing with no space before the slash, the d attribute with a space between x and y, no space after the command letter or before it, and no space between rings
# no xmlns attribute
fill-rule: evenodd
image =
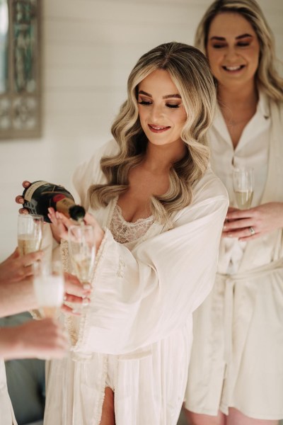
<svg viewBox="0 0 283 425"><path fill-rule="evenodd" d="M158 46L129 75L115 140L75 171L96 269L86 312L66 321L71 353L50 365L45 425L177 424L228 208L209 169L214 102L204 55ZM50 219L67 266L70 221Z"/></svg>

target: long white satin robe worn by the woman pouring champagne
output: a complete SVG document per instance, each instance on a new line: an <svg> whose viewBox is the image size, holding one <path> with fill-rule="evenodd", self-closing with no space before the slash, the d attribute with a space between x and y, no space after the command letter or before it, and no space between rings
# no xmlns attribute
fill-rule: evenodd
<svg viewBox="0 0 283 425"><path fill-rule="evenodd" d="M104 182L99 159L117 152L110 142L74 175L81 203ZM81 322L69 317L74 345L52 361L45 425L98 425L108 354L117 356L117 425L175 425L185 394L192 344L192 312L211 290L226 189L208 170L192 205L176 212L173 229L154 222L132 251L107 229L114 202L90 211L105 229L93 276L91 305ZM65 259L67 253L62 245Z"/></svg>

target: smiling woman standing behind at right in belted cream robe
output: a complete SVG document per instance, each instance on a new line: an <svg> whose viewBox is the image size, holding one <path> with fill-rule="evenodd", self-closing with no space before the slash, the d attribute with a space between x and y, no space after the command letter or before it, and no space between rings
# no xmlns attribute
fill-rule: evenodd
<svg viewBox="0 0 283 425"><path fill-rule="evenodd" d="M230 199L212 293L194 314L191 425L275 425L283 418L283 80L254 0L214 1L197 29L217 80L212 169ZM238 210L233 167L255 172Z"/></svg>

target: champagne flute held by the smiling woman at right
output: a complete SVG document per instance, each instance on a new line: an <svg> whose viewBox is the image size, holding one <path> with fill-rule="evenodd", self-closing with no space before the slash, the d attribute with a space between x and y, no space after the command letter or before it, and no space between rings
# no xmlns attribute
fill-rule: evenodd
<svg viewBox="0 0 283 425"><path fill-rule="evenodd" d="M250 167L233 169L233 190L240 210L250 208L253 200L254 172Z"/></svg>

